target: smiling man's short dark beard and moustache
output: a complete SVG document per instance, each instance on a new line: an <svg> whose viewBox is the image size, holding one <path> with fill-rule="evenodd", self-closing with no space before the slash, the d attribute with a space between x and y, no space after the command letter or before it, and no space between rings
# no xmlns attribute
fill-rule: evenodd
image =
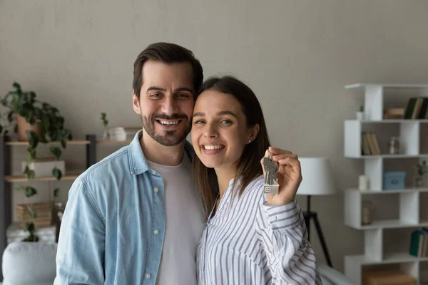
<svg viewBox="0 0 428 285"><path fill-rule="evenodd" d="M159 142L161 145L165 145L165 147L171 147L183 142L192 128L192 125L190 124L191 120L188 120L188 117L185 114L173 114L168 116L165 114L154 113L150 118L141 116L141 120L143 120L143 128L146 130L146 133L148 133L153 140L156 140L156 142ZM183 120L184 122L187 122L188 125L185 126L184 130L163 130L163 135L160 135L156 134L155 120Z"/></svg>

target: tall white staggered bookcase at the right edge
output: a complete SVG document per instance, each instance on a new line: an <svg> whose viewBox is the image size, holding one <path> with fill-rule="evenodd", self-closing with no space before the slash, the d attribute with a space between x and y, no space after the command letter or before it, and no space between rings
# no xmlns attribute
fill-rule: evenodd
<svg viewBox="0 0 428 285"><path fill-rule="evenodd" d="M409 232L428 227L428 217L421 214L426 207L421 203L421 197L428 197L428 189L413 187L414 170L409 165L428 159L428 151L422 151L422 144L428 138L423 138L421 131L428 126L428 120L384 120L384 108L390 93L395 97L400 92L428 96L428 85L359 83L345 88L358 88L352 91L355 93L362 91L365 119L345 120L344 155L362 160L364 172L361 175L367 176L370 185L368 190L359 190L358 187L345 190L345 224L364 231L365 237L362 254L345 256L345 274L361 284L363 270L387 265L399 267L419 280L419 267L422 262L428 266L428 257L409 254ZM406 107L406 103L402 107ZM362 133L373 130L383 151L379 155L362 155ZM390 155L385 147L391 133L399 137L399 154ZM422 153L425 151L427 153ZM407 173L406 186L402 190L384 190L383 175L391 170L392 161L398 170ZM362 203L365 200L377 202L376 214L370 224L362 224ZM397 234L397 231L404 233ZM399 245L386 245L394 242Z"/></svg>

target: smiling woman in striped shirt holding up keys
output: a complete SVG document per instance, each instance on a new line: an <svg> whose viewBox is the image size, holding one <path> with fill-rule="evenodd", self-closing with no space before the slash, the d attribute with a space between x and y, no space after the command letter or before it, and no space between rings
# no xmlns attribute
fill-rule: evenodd
<svg viewBox="0 0 428 285"><path fill-rule="evenodd" d="M236 78L210 78L196 96L195 180L207 209L198 282L322 284L295 194L300 162L269 147L260 103ZM263 157L277 162L279 193L264 194Z"/></svg>

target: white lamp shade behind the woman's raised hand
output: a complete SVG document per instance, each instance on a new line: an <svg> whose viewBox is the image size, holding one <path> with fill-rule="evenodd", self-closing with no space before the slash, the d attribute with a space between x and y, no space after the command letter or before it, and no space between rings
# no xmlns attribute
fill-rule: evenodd
<svg viewBox="0 0 428 285"><path fill-rule="evenodd" d="M302 182L297 195L331 195L336 192L330 160L326 157L299 157Z"/></svg>

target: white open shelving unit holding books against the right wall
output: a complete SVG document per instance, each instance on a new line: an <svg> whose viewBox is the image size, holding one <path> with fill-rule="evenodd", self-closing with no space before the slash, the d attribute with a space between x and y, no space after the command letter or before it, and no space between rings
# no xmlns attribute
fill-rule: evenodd
<svg viewBox="0 0 428 285"><path fill-rule="evenodd" d="M420 195L428 193L428 189L408 187L403 190L384 190L383 173L389 159L424 159L428 153L421 153L421 125L428 120L384 120L384 100L387 100L389 90L415 89L420 95L428 96L428 84L352 84L346 89L360 88L364 92L365 120L345 120L344 143L345 157L363 160L364 174L370 181L370 190L345 190L345 224L365 233L365 252L361 255L345 256L345 275L361 284L362 271L373 266L395 264L418 279L419 263L428 261L428 257L413 257L407 252L387 252L384 250L385 231L390 229L411 229L428 227L428 218L420 213ZM362 132L373 125L397 125L399 130L399 155L362 155ZM378 138L382 133L376 134ZM409 169L402 169L412 175ZM362 225L362 202L372 197L388 198L396 196L398 213L394 219L374 219L369 225ZM389 209L391 209L389 207ZM388 211L386 209L382 209ZM388 237L389 238L389 237ZM410 239L409 239L410 240ZM418 283L419 284L419 283Z"/></svg>

